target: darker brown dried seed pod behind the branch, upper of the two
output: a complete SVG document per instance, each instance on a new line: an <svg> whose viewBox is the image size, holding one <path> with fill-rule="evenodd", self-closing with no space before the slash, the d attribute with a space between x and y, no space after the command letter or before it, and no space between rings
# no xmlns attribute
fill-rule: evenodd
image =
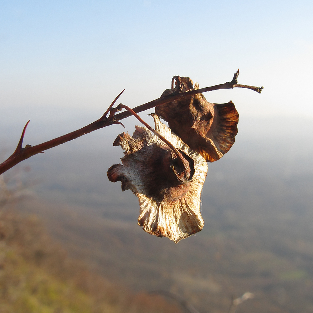
<svg viewBox="0 0 313 313"><path fill-rule="evenodd" d="M162 96L198 89L189 77L176 78L176 86ZM173 86L172 86L173 87ZM155 108L157 115L168 122L171 130L208 162L220 159L235 142L239 114L232 101L209 103L203 94L186 96Z"/></svg>

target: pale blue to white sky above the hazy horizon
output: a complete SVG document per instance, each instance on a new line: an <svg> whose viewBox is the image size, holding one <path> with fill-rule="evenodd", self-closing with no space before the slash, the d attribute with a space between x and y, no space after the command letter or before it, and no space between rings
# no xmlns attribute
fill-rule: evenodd
<svg viewBox="0 0 313 313"><path fill-rule="evenodd" d="M2 0L0 131L20 134L30 119L27 136L48 140L98 119L124 88L120 102L134 107L174 75L202 88L238 68L239 83L262 93L219 90L208 101L232 100L243 118L313 121L312 16L311 0Z"/></svg>

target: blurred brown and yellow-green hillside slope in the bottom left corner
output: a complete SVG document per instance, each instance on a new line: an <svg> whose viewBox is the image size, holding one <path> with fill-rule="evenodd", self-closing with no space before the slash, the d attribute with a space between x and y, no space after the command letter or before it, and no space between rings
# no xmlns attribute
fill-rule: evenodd
<svg viewBox="0 0 313 313"><path fill-rule="evenodd" d="M70 259L35 215L0 211L1 313L181 312L161 296L132 294Z"/></svg>

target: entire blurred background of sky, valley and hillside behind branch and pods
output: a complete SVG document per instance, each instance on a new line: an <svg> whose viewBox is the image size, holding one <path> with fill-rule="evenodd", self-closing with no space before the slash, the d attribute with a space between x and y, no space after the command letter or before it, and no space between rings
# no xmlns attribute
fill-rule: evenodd
<svg viewBox="0 0 313 313"><path fill-rule="evenodd" d="M1 161L28 120L36 145L100 118L124 88L134 107L174 75L202 88L239 68L240 84L264 86L205 94L233 101L239 132L208 163L203 230L178 244L141 230L137 198L108 181L121 125L3 174L2 311L180 312L150 294L165 290L203 313L246 291L237 312L312 312L312 14L311 1L2 1Z"/></svg>

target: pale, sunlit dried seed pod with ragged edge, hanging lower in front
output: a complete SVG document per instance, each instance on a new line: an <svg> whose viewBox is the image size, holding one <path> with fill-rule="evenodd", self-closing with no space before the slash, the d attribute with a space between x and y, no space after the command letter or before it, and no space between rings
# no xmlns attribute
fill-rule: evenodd
<svg viewBox="0 0 313 313"><path fill-rule="evenodd" d="M152 116L156 131L181 152L187 165L182 166L173 151L146 127L136 126L132 137L123 133L115 139L113 145L125 150L123 165L113 165L107 174L111 182L122 182L123 191L131 189L138 197L138 224L146 232L177 243L203 228L200 195L208 166L156 114Z"/></svg>

